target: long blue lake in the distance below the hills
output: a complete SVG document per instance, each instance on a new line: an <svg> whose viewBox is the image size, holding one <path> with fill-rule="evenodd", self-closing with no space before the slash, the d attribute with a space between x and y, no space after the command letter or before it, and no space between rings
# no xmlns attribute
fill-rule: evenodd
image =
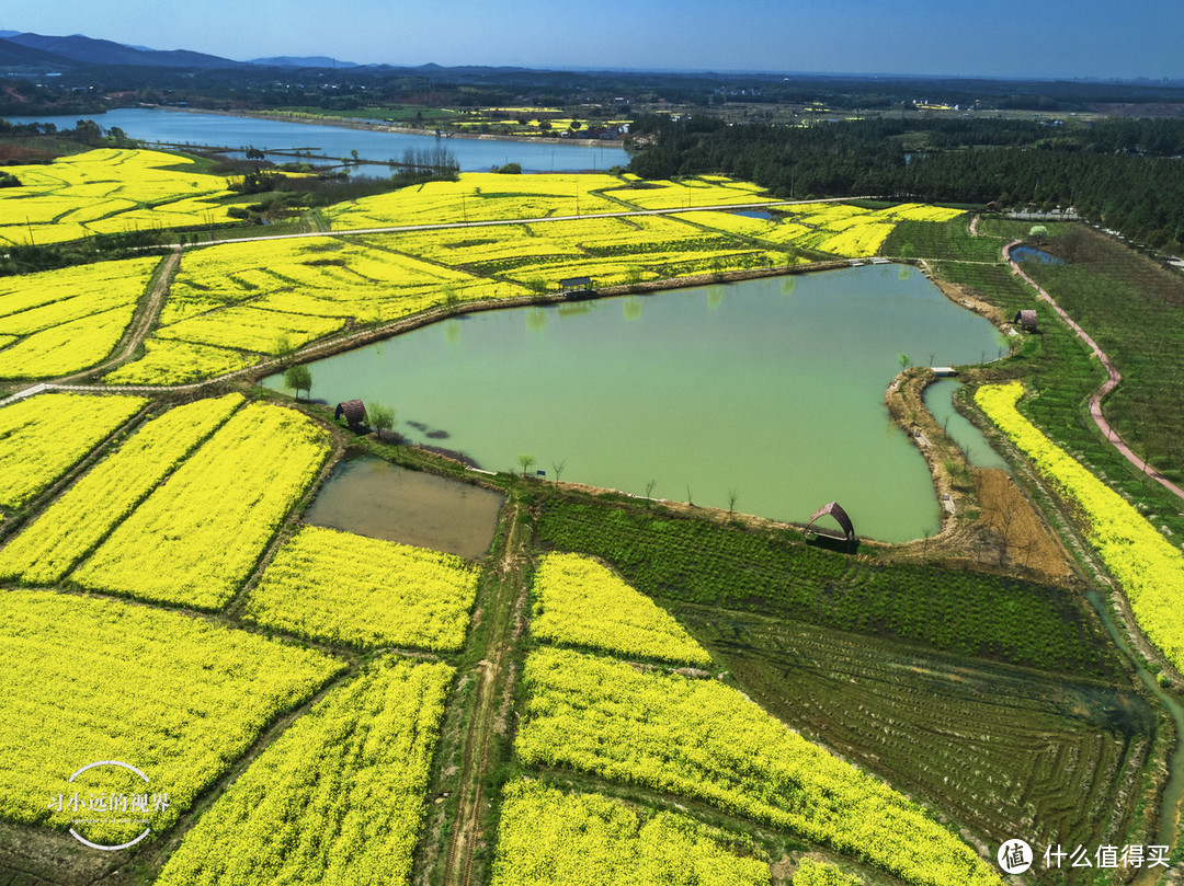
<svg viewBox="0 0 1184 886"><path fill-rule="evenodd" d="M514 142L495 138L435 138L405 132L380 132L371 129L285 123L271 119L232 117L224 114L194 114L160 108L120 108L92 115L104 129L118 127L133 138L174 144L212 144L227 148L255 147L259 150L310 148L315 154L333 157L352 156L356 150L363 160L385 163L401 160L407 148L422 150L443 145L456 155L464 172L482 172L506 163L521 163L522 169L542 172L581 172L629 163L629 154L619 144L587 147L562 141ZM59 129L75 125L78 115L66 117L6 117L12 123L52 122ZM272 160L291 160L275 156ZM390 175L386 166L363 166L363 174Z"/></svg>

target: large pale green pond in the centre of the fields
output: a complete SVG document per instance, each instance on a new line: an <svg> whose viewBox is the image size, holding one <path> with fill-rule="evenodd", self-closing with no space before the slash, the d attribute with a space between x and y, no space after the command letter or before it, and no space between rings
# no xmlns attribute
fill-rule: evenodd
<svg viewBox="0 0 1184 886"><path fill-rule="evenodd" d="M884 390L912 362L993 360L995 328L919 272L867 265L464 315L310 364L315 397L397 410L481 467L805 522L837 500L888 542L939 524ZM282 376L268 381L282 389Z"/></svg>

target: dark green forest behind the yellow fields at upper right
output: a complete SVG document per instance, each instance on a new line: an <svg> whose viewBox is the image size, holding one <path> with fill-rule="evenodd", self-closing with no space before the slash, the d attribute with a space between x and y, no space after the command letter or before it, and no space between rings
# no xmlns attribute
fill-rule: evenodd
<svg viewBox="0 0 1184 886"><path fill-rule="evenodd" d="M790 128L643 117L643 177L720 172L784 198L883 195L1069 207L1151 246L1184 242L1184 122L868 119Z"/></svg>

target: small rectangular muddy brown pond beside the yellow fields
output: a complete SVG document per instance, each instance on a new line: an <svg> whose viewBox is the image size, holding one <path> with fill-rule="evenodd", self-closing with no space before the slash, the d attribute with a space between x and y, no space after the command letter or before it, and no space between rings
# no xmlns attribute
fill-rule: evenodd
<svg viewBox="0 0 1184 886"><path fill-rule="evenodd" d="M493 544L504 500L480 486L354 458L337 465L304 522L476 560Z"/></svg>

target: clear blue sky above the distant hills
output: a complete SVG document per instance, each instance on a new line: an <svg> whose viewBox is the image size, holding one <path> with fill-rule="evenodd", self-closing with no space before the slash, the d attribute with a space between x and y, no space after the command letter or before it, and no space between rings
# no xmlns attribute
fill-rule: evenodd
<svg viewBox="0 0 1184 886"><path fill-rule="evenodd" d="M1180 0L7 0L0 30L234 59L1184 78Z"/></svg>

